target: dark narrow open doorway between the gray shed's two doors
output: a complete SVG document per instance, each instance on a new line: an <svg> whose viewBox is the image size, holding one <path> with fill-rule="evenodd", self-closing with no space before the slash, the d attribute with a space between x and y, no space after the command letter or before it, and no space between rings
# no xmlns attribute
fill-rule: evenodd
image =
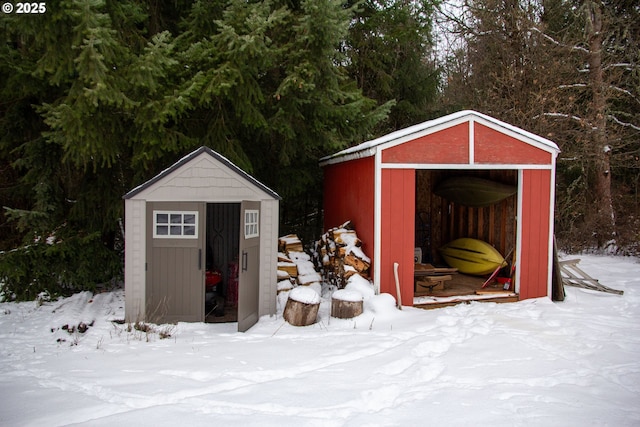
<svg viewBox="0 0 640 427"><path fill-rule="evenodd" d="M240 203L207 203L205 322L238 321Z"/></svg>

